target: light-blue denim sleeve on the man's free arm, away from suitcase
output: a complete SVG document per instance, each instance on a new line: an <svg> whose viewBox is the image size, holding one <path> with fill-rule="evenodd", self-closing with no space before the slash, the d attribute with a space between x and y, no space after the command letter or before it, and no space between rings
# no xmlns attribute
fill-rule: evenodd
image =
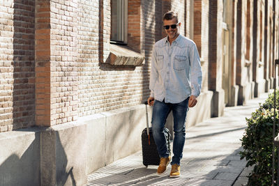
<svg viewBox="0 0 279 186"><path fill-rule="evenodd" d="M190 48L189 53L191 67L190 84L192 95L198 97L202 89L202 67L199 59L199 52L197 51L197 46L195 44Z"/></svg>

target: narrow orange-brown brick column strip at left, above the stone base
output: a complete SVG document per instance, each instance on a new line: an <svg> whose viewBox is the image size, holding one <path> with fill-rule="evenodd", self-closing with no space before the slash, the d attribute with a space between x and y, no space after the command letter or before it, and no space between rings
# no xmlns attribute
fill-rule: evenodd
<svg viewBox="0 0 279 186"><path fill-rule="evenodd" d="M50 1L36 1L36 124L50 125Z"/></svg>

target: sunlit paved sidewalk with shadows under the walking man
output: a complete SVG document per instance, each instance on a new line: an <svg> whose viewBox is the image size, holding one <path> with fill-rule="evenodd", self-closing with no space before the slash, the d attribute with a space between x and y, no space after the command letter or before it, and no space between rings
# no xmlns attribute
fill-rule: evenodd
<svg viewBox="0 0 279 186"><path fill-rule="evenodd" d="M91 173L87 185L242 185L250 170L243 171L246 160L240 160L239 139L246 128L245 118L250 118L267 95L245 106L226 107L224 116L186 129L179 178L169 178L170 165L162 176L156 173L157 166L146 169L140 151Z"/></svg>

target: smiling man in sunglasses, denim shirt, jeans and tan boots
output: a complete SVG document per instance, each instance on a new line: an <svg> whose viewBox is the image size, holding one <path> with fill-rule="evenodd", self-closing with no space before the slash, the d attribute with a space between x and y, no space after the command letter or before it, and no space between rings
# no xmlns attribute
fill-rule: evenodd
<svg viewBox="0 0 279 186"><path fill-rule="evenodd" d="M157 173L163 173L171 160L163 133L170 111L174 116L174 141L170 177L180 176L180 160L185 143L185 120L188 107L197 104L201 91L202 70L193 40L179 34L181 23L169 11L163 17L167 37L156 42L151 59L149 105L153 105L152 131L160 155Z"/></svg>

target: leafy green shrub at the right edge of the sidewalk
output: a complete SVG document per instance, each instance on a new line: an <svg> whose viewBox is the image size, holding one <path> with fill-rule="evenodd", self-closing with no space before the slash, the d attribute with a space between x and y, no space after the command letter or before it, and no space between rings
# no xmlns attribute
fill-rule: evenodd
<svg viewBox="0 0 279 186"><path fill-rule="evenodd" d="M278 98L279 91L276 91L276 100ZM243 146L243 151L240 152L241 160L246 157L246 160L248 160L246 166L255 165L249 175L248 185L272 185L273 99L274 93L271 93L264 104L259 104L259 109L252 113L252 117L246 118L248 127L241 139ZM279 126L278 108L277 105L276 136ZM275 176L277 179L277 148L275 160Z"/></svg>

